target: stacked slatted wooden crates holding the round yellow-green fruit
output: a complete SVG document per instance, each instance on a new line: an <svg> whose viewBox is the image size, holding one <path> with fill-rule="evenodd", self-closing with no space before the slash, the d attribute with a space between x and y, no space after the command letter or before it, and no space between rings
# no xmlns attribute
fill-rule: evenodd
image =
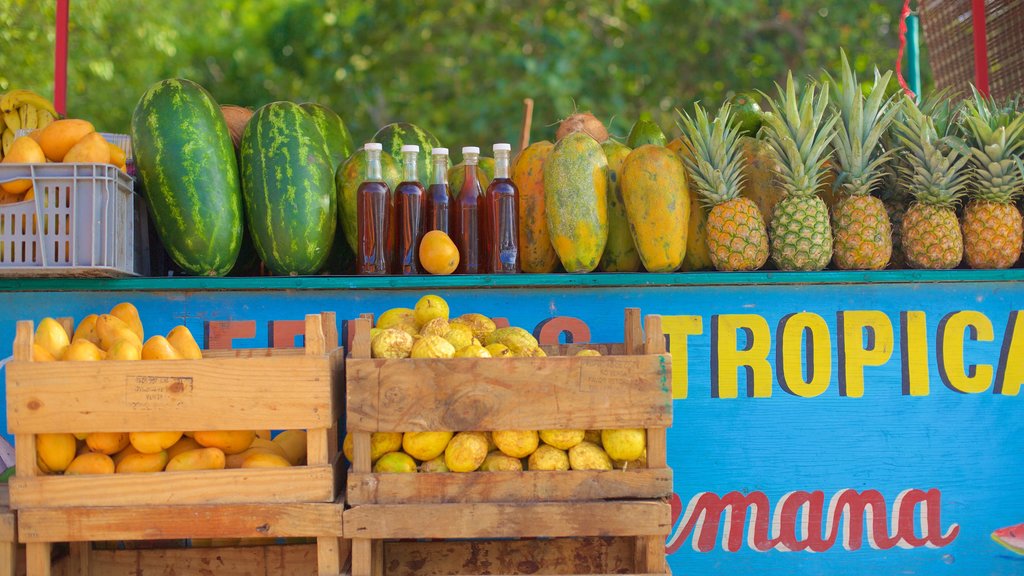
<svg viewBox="0 0 1024 576"><path fill-rule="evenodd" d="M660 318L626 314L626 341L547 347L548 358L370 358L371 321L349 324L346 425L354 462L348 475L345 534L353 576L383 574L392 538L623 536L638 539L635 573L665 573L672 470L672 360ZM635 470L374 474L375 431L546 428L647 429L648 467Z"/></svg>

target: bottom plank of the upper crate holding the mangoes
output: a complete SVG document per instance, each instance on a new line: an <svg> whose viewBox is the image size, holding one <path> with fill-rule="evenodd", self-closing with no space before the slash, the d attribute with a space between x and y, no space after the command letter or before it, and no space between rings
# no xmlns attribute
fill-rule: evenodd
<svg viewBox="0 0 1024 576"><path fill-rule="evenodd" d="M334 468L296 466L10 479L11 507L333 502Z"/></svg>

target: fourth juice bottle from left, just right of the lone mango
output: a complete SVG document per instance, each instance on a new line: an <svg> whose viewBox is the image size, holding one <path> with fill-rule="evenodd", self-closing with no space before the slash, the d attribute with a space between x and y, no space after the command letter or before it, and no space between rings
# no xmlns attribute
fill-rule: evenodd
<svg viewBox="0 0 1024 576"><path fill-rule="evenodd" d="M456 274L483 274L486 271L483 244L480 242L480 234L483 232L481 220L484 215L480 210L483 190L476 175L480 149L475 146L463 148L462 157L466 175L452 214L452 240L459 247L459 268L456 269Z"/></svg>

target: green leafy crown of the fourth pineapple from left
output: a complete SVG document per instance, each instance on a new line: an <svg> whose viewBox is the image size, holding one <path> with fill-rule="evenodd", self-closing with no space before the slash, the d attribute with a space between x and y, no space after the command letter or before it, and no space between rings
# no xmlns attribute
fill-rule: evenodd
<svg viewBox="0 0 1024 576"><path fill-rule="evenodd" d="M902 109L894 130L908 153L900 164L903 186L923 204L952 208L971 177L970 152L952 136L940 137L932 118L911 98L903 98Z"/></svg>

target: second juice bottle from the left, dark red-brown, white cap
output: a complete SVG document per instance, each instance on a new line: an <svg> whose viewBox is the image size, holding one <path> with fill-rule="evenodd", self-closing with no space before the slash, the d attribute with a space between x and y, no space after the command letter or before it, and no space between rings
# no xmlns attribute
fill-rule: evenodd
<svg viewBox="0 0 1024 576"><path fill-rule="evenodd" d="M395 243L398 274L420 274L420 240L423 238L423 203L426 192L416 171L420 147L401 147L402 181L394 189Z"/></svg>

